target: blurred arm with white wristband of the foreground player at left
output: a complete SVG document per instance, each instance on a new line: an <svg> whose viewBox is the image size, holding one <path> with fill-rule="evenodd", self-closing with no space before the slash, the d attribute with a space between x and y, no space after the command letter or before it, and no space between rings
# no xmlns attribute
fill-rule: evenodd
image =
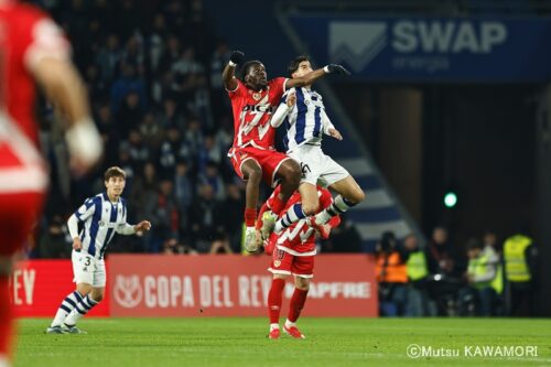
<svg viewBox="0 0 551 367"><path fill-rule="evenodd" d="M50 101L67 117L66 139L72 165L84 173L100 159L104 143L90 118L86 87L68 60L43 57L31 68Z"/></svg>

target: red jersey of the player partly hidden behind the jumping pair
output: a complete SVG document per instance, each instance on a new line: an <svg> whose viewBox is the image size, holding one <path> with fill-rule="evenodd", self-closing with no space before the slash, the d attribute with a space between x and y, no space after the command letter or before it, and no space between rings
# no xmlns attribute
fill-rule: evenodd
<svg viewBox="0 0 551 367"><path fill-rule="evenodd" d="M268 198L268 207L272 206L273 197L279 194L280 186L276 187L270 198ZM317 196L320 197L320 211L323 211L333 203L333 196L331 192L326 188L317 186ZM288 199L284 209L281 212L282 215L296 203L301 202L301 195L295 191L291 197ZM333 217L328 224L332 227L338 226L341 219L338 216ZM315 230L306 224L306 219L301 219L291 227L287 228L279 236L274 233L271 234L269 241L276 245L278 248L284 251L291 252L293 255L315 255ZM274 244L273 244L274 242Z"/></svg>

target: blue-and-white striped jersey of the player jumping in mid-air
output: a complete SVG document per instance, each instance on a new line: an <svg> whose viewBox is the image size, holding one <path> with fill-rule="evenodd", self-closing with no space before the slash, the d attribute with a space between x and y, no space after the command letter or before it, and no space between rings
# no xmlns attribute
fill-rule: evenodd
<svg viewBox="0 0 551 367"><path fill-rule="evenodd" d="M281 98L281 108L287 108L287 98L292 90L296 93L296 105L284 120L287 136L283 141L288 152L306 143L320 145L323 134L334 128L325 112L322 96L315 90L305 87L289 89Z"/></svg>

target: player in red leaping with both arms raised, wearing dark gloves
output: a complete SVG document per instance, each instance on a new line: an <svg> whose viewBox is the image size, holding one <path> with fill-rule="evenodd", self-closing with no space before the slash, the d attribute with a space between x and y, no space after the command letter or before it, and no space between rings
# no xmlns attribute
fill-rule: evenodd
<svg viewBox="0 0 551 367"><path fill-rule="evenodd" d="M266 67L259 61L249 61L241 66L241 79L235 77L237 64L244 53L234 51L223 73L234 110L234 145L228 156L237 174L247 181L245 224L245 248L257 250L255 220L261 179L273 185L281 183L281 192L274 198L273 213L280 214L287 198L296 190L301 180L298 162L276 151L276 129L270 126L272 111L279 106L287 88L305 86L325 74L345 74L341 65L327 65L302 77L292 79L278 77L268 82Z"/></svg>

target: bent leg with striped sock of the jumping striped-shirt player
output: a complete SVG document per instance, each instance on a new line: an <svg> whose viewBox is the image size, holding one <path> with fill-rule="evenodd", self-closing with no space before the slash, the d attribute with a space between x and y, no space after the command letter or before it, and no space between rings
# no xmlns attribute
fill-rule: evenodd
<svg viewBox="0 0 551 367"><path fill-rule="evenodd" d="M316 214L314 220L310 223L316 229L326 224L332 217L345 213L366 198L366 194L352 175L331 184L329 188L338 193L338 195L333 204Z"/></svg>

